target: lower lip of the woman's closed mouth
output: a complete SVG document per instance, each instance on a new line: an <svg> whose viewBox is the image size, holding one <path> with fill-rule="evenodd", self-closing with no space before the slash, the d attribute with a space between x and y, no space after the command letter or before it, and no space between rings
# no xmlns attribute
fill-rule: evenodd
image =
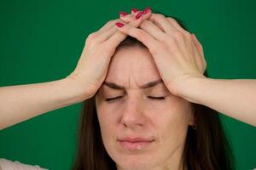
<svg viewBox="0 0 256 170"><path fill-rule="evenodd" d="M143 150L148 147L153 141L150 142L128 142L128 141L119 141L119 144L125 150Z"/></svg>

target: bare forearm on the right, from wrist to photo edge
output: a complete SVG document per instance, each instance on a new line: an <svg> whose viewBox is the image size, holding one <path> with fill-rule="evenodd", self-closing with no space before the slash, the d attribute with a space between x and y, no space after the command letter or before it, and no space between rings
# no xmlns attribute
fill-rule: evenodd
<svg viewBox="0 0 256 170"><path fill-rule="evenodd" d="M184 99L256 126L255 80L193 77L181 87L180 95Z"/></svg>

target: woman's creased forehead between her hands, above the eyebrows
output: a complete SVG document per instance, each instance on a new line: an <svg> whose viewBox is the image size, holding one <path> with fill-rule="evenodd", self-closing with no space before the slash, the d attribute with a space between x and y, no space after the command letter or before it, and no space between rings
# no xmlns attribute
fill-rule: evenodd
<svg viewBox="0 0 256 170"><path fill-rule="evenodd" d="M108 66L105 82L116 82L125 88L140 87L160 80L160 73L147 48L120 48Z"/></svg>

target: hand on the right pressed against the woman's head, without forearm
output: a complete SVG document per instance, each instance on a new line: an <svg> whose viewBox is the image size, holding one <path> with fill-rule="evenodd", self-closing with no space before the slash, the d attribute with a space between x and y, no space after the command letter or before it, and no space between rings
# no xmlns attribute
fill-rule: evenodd
<svg viewBox="0 0 256 170"><path fill-rule="evenodd" d="M123 17L129 21L130 17ZM183 30L177 21L162 14L151 14L136 28L125 25L120 32L137 38L148 47L166 88L179 95L179 87L190 77L204 77L207 62L201 43L194 34Z"/></svg>

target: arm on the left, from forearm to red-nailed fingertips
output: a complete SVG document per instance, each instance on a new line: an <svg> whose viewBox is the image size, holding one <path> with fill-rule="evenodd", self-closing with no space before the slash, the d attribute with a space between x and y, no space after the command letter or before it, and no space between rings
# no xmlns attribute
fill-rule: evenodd
<svg viewBox="0 0 256 170"><path fill-rule="evenodd" d="M137 27L150 15L151 11L127 24ZM0 88L0 129L94 96L105 80L115 49L127 37L117 31L117 21L108 21L86 38L78 65L68 77Z"/></svg>

